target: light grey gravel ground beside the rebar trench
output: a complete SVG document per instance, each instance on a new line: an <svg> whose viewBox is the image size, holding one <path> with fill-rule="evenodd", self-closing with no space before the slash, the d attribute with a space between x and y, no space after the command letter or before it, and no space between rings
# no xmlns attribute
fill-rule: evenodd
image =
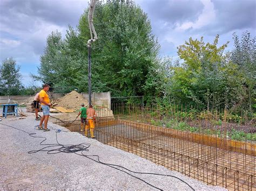
<svg viewBox="0 0 256 191"><path fill-rule="evenodd" d="M56 133L53 129L68 130L52 123L49 123L49 129L51 129L49 132L36 130L35 125L38 125L39 122L35 121L33 115L17 121L10 121L12 118L3 118L0 122L0 190L157 190L133 176L163 190L192 190L176 178L136 174L123 169L125 173L75 153L47 154L44 151L28 153L45 147L45 145L40 145L44 140L42 137L47 138L43 144L56 144L56 135L60 144L91 144L89 151L83 153L99 155L102 162L120 165L136 172L174 175L196 190L226 190L225 188L207 186L178 172L169 171L169 169L153 164L137 155L104 145L95 139L86 138L79 133ZM41 138L30 137L28 133L3 124L29 133L36 133L33 136ZM96 157L91 158L97 160ZM120 169L120 167L117 168Z"/></svg>

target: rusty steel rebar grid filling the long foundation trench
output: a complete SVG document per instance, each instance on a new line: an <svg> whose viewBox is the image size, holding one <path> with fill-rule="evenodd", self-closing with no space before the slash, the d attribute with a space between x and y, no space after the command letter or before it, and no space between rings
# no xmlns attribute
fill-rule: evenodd
<svg viewBox="0 0 256 191"><path fill-rule="evenodd" d="M79 124L76 121L67 128L79 132ZM95 132L99 142L139 155L208 185L230 190L256 189L253 143L110 118L98 121Z"/></svg>

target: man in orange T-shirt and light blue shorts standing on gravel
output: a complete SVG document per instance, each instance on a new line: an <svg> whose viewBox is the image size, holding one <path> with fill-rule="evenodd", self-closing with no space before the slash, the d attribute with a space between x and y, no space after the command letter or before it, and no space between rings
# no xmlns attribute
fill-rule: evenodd
<svg viewBox="0 0 256 191"><path fill-rule="evenodd" d="M48 84L44 84L43 89L39 92L39 98L40 98L40 103L42 105L43 109L43 117L41 118L40 124L39 124L39 129L43 130L43 122L44 122L44 131L50 131L50 129L47 128L47 123L50 115L50 99L46 91L48 91L50 86Z"/></svg>

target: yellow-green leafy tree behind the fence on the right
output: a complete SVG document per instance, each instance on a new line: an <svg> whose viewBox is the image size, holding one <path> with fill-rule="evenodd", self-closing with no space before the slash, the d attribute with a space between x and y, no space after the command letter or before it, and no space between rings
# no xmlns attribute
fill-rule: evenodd
<svg viewBox="0 0 256 191"><path fill-rule="evenodd" d="M204 43L203 37L200 40L190 38L178 47L183 63L171 68L171 94L177 102L198 105L202 109L213 109L213 103L220 102L220 91L223 91L220 90L223 87L221 71L228 42L218 47L218 41L218 35L213 44Z"/></svg>

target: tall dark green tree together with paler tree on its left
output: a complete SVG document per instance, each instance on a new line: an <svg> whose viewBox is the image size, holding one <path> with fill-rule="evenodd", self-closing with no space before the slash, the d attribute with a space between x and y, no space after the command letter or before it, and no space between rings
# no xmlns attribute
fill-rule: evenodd
<svg viewBox="0 0 256 191"><path fill-rule="evenodd" d="M64 40L59 32L50 34L35 78L52 86L78 86L86 91L87 13L88 9L77 29L69 27ZM113 96L149 93L142 87L148 74L156 70L159 45L147 15L133 1L97 2L93 25L98 40L91 47L92 91L112 91Z"/></svg>

